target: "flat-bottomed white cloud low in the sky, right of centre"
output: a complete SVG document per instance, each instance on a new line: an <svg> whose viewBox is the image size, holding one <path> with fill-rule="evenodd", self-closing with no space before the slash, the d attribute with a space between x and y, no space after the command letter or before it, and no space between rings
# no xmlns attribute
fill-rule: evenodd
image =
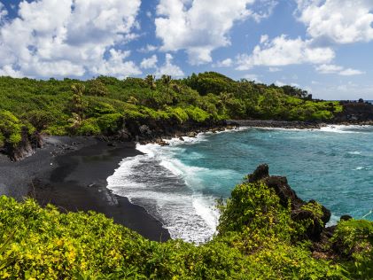
<svg viewBox="0 0 373 280"><path fill-rule="evenodd" d="M286 35L278 36L272 41L262 36L260 42L251 55L241 54L237 57L237 70L247 70L253 66L322 64L329 63L335 57L330 48L313 47L311 41L288 39Z"/></svg>

